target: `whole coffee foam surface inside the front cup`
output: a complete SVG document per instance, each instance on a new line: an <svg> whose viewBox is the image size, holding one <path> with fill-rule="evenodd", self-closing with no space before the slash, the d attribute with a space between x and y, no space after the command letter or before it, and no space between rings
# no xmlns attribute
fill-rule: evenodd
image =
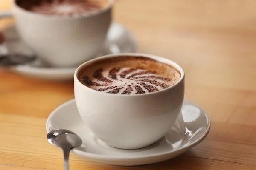
<svg viewBox="0 0 256 170"><path fill-rule="evenodd" d="M86 66L79 81L111 94L147 94L176 84L180 72L146 57L117 57Z"/></svg>

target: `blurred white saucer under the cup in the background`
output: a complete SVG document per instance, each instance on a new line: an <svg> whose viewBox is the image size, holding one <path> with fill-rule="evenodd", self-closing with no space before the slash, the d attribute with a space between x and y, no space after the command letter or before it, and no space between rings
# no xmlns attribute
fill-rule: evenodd
<svg viewBox="0 0 256 170"><path fill-rule="evenodd" d="M5 35L4 46L0 47L0 54L7 52L21 52L31 54L32 52L20 40L15 26L9 26L3 30ZM112 23L104 49L96 54L96 57L125 52L136 52L137 42L130 31L119 23ZM52 79L52 80L72 80L76 68L49 68L39 60L28 65L18 65L11 68L12 71L24 76Z"/></svg>

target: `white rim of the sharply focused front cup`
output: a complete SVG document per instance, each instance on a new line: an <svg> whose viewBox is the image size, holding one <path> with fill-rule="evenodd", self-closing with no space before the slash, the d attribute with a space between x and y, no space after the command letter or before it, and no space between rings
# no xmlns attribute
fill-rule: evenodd
<svg viewBox="0 0 256 170"><path fill-rule="evenodd" d="M170 86L168 88L162 89L160 91L154 91L154 92L145 93L145 94L129 94L129 95L125 95L125 94L111 94L111 93L104 93L102 91L96 91L96 90L94 90L92 88L87 87L86 85L84 85L83 83L81 83L79 81L78 74L81 71L81 69L84 68L86 65L93 64L93 62L99 61L101 59L107 59L107 58L113 58L113 57L121 57L121 56L147 57L147 58L154 59L157 62L166 63L168 65L171 65L173 68L177 69L180 72L180 79L174 85L172 85L172 86ZM167 91L167 90L169 90L171 88L174 88L178 84L180 84L180 82L182 82L184 78L185 78L185 73L183 71L183 68L180 65L178 65L176 62L174 62L174 61L172 61L170 59L164 58L164 57L160 57L160 56L156 56L156 55L152 55L152 54L143 54L143 53L117 53L117 54L108 54L108 55L105 55L105 56L102 56L102 57L97 57L97 58L91 59L91 60L89 60L87 62L84 62L83 64L79 65L78 68L76 68L76 71L75 71L75 74L74 74L74 81L77 81L79 83L79 85L83 85L84 88L87 88L88 90L90 90L90 91L92 91L94 93L100 93L102 95L125 96L125 97L145 96L145 95L152 95L152 94L157 94L157 93L163 93L163 92L165 92L165 91Z"/></svg>

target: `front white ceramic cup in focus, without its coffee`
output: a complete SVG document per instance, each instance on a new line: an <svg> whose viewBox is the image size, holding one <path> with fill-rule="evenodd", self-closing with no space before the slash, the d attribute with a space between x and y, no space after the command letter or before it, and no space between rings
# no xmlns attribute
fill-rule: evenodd
<svg viewBox="0 0 256 170"><path fill-rule="evenodd" d="M108 94L79 82L82 68L101 59L143 56L172 65L180 71L173 86L148 94ZM137 149L157 142L175 123L184 99L184 71L177 63L140 53L110 54L80 65L74 75L75 99L83 121L100 140L112 147Z"/></svg>

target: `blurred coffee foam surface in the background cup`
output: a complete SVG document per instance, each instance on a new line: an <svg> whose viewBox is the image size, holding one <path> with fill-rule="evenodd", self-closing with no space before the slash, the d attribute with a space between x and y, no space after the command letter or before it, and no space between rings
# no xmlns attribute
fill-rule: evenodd
<svg viewBox="0 0 256 170"><path fill-rule="evenodd" d="M20 6L39 14L76 15L104 8L108 0L40 0L20 3Z"/></svg>

